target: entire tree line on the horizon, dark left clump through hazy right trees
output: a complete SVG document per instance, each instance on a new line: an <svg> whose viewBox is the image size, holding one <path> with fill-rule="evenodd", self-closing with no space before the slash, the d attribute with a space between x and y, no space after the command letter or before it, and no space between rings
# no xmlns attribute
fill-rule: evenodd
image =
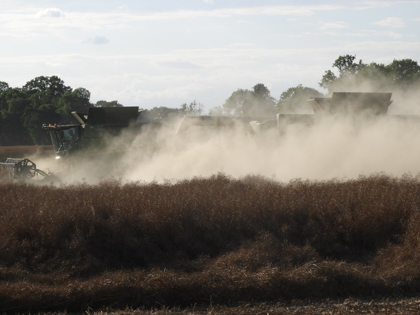
<svg viewBox="0 0 420 315"><path fill-rule="evenodd" d="M371 91L419 90L420 66L412 59L393 60L390 64L356 61L355 55L339 56L326 70L319 86L327 91L351 91L369 87ZM0 81L0 145L49 144L50 140L40 128L42 123L75 123L72 111L87 112L89 107L123 106L118 101L90 102L90 92L82 87L72 89L58 76L38 76L21 88L10 87ZM307 100L324 94L314 88L298 84L275 99L262 83L251 89L234 91L226 101L209 111L210 115L272 117L278 112L308 110ZM179 107L153 107L144 109L148 120L161 121L176 115L202 115L204 105L194 100Z"/></svg>

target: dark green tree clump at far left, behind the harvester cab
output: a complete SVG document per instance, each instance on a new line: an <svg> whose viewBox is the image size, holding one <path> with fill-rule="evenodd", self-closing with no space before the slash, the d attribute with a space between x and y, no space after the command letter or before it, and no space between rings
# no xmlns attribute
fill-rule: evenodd
<svg viewBox="0 0 420 315"><path fill-rule="evenodd" d="M87 89L73 90L55 75L35 77L21 88L0 81L0 145L49 144L42 124L76 123L71 112L91 106Z"/></svg>

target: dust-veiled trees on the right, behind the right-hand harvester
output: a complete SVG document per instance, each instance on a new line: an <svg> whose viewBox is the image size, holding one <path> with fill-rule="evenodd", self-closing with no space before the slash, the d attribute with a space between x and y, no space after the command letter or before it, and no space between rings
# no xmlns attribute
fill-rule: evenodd
<svg viewBox="0 0 420 315"><path fill-rule="evenodd" d="M313 113L307 100L323 97L334 91L341 92L408 92L420 89L420 66L412 59L394 59L390 64L356 61L355 55L339 56L332 67L326 70L318 85L325 89L323 94L314 88L298 84L281 93L276 100L269 89L261 83L251 90L238 89L211 113L240 116L268 116L275 113ZM420 105L420 101L419 101Z"/></svg>

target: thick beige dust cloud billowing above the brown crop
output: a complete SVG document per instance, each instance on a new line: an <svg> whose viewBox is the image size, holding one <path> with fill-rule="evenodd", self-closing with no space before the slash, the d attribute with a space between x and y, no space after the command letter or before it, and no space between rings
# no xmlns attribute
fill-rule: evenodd
<svg viewBox="0 0 420 315"><path fill-rule="evenodd" d="M176 124L164 125L125 144L123 134L110 147L123 145L129 153L112 162L100 162L101 157L83 162L73 168L73 179L96 182L114 176L163 181L222 171L288 181L419 172L418 119L327 116L310 125L285 125L280 135L273 128L251 137L242 129L209 126L191 126L175 135Z"/></svg>

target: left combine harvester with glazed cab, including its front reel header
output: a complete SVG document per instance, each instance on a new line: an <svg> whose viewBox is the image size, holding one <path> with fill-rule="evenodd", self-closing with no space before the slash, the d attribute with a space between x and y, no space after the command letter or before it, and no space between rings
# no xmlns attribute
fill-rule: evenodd
<svg viewBox="0 0 420 315"><path fill-rule="evenodd" d="M139 107L90 107L87 113L72 112L79 122L72 125L49 124L42 129L51 137L56 153L55 160L60 170L45 173L36 168L34 162L28 159L7 158L0 163L0 170L8 170L10 178L16 180L38 179L43 181L58 181L71 179L73 164L84 163L83 159L98 161L112 156L121 155L127 150L127 145L143 128L158 127L152 122L137 122ZM130 131L126 132L125 131ZM120 143L108 144L112 139L124 140ZM130 139L131 137L131 139ZM77 161L77 162L76 162ZM107 167L109 168L109 164Z"/></svg>

